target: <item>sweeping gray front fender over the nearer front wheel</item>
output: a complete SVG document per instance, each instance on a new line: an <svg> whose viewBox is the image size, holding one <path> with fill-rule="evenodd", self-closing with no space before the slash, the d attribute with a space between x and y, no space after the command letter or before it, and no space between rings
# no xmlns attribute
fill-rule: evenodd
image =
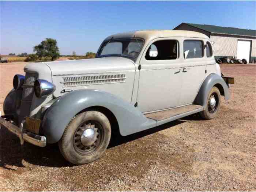
<svg viewBox="0 0 256 192"><path fill-rule="evenodd" d="M47 143L58 142L69 121L80 111L93 106L109 109L116 117L123 136L157 126L156 121L145 117L131 103L116 95L92 89L75 90L57 99L47 109L42 121Z"/></svg>

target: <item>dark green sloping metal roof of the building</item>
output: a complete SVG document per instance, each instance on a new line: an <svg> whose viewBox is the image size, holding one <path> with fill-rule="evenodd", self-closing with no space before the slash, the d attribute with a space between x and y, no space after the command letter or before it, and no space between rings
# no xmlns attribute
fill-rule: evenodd
<svg viewBox="0 0 256 192"><path fill-rule="evenodd" d="M256 30L251 29L239 29L234 27L220 27L214 25L200 25L200 24L192 24L192 23L185 23L187 25L197 27L204 31L208 31L210 33L222 33L222 34L232 34L232 35L246 35L246 36L255 36L256 37Z"/></svg>

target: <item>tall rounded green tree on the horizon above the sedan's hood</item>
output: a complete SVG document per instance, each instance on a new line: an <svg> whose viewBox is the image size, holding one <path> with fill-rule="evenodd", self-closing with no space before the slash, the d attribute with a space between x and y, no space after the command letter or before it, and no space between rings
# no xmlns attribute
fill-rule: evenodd
<svg viewBox="0 0 256 192"><path fill-rule="evenodd" d="M59 47L55 39L46 38L41 44L34 46L34 52L39 59L51 57L52 61L60 57Z"/></svg>

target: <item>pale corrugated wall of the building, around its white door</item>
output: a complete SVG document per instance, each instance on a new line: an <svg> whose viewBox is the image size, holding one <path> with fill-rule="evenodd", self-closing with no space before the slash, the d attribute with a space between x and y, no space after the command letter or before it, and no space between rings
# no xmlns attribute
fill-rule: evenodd
<svg viewBox="0 0 256 192"><path fill-rule="evenodd" d="M214 42L212 48L214 50L215 59L223 56L232 57L237 54L237 41L249 40L251 44L251 61L256 59L256 38L245 38L237 35L211 35L211 41ZM251 62L250 61L250 62Z"/></svg>

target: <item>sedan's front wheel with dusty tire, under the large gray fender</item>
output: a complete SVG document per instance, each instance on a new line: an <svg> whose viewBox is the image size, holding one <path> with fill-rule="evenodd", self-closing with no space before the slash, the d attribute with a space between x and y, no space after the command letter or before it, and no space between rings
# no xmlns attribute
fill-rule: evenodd
<svg viewBox="0 0 256 192"><path fill-rule="evenodd" d="M90 146L83 145L81 140L86 129L91 129L94 133L94 143L89 144ZM86 111L69 122L59 141L59 149L67 161L82 165L100 158L108 147L110 137L111 126L108 118L98 111Z"/></svg>

